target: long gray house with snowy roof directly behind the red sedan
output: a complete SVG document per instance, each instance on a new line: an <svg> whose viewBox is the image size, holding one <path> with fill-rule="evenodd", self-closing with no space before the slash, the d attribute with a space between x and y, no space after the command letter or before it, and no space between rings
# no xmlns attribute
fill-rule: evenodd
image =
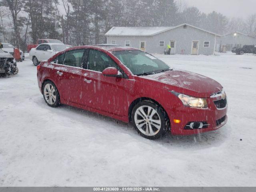
<svg viewBox="0 0 256 192"><path fill-rule="evenodd" d="M217 34L189 24L174 27L113 27L107 44L131 46L149 53L163 54L167 44L171 54L214 54Z"/></svg>

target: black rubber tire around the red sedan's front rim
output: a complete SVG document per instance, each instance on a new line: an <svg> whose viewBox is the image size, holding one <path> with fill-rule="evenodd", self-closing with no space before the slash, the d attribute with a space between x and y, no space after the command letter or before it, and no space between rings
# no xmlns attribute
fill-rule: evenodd
<svg viewBox="0 0 256 192"><path fill-rule="evenodd" d="M135 115L137 115L136 110L142 106L149 106L149 107L153 108L154 110L156 110L156 112L160 118L160 121L161 121L160 129L157 132L157 134L155 134L153 136L148 136L148 135L144 134L142 131L140 131L140 130L142 130L142 128L139 129L135 123ZM143 124L143 122L142 122L142 124ZM147 124L149 124L149 123L147 123ZM164 134L166 134L167 130L170 127L169 118L168 118L166 112L164 111L164 109L161 106L159 106L158 104L156 104L150 100L145 100L145 101L139 102L138 104L136 104L134 106L134 108L132 109L132 125L134 126L135 130L137 130L137 132L142 137L150 139L150 140L158 139L158 138L164 136ZM154 127L154 124L151 124L151 126L152 125ZM142 127L144 127L145 129L148 128L148 126L146 125L146 121L145 121L145 126L143 125ZM154 127L154 129L156 130L156 127Z"/></svg>

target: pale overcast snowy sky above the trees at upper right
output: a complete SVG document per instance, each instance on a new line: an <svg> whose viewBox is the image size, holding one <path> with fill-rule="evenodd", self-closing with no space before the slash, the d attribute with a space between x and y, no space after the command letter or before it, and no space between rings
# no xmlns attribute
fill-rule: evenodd
<svg viewBox="0 0 256 192"><path fill-rule="evenodd" d="M184 0L188 6L195 6L201 12L220 12L228 17L246 18L256 14L256 0Z"/></svg>

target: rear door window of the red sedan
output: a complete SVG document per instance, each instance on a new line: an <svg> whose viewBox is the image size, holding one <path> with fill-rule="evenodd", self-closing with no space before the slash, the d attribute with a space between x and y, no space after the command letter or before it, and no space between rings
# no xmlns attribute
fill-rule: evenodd
<svg viewBox="0 0 256 192"><path fill-rule="evenodd" d="M72 67L81 67L83 55L84 55L84 49L68 51L65 54L63 64L72 66Z"/></svg>

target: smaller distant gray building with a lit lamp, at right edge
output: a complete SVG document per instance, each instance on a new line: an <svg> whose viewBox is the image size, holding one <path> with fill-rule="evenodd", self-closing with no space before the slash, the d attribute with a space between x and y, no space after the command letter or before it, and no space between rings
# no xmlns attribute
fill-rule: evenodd
<svg viewBox="0 0 256 192"><path fill-rule="evenodd" d="M240 32L233 32L217 37L216 51L226 46L227 51L231 51L233 47L242 47L244 45L256 44L256 38Z"/></svg>

